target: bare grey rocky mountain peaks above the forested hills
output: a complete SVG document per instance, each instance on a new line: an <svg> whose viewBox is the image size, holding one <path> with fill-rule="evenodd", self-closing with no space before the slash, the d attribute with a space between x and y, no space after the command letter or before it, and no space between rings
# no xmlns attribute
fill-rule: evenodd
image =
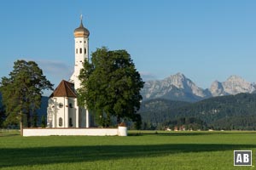
<svg viewBox="0 0 256 170"><path fill-rule="evenodd" d="M252 94L255 90L255 83L247 82L236 75L228 77L224 82L214 81L210 88L203 89L178 72L163 80L145 82L141 94L144 100L160 98L195 102L201 99L230 94Z"/></svg>

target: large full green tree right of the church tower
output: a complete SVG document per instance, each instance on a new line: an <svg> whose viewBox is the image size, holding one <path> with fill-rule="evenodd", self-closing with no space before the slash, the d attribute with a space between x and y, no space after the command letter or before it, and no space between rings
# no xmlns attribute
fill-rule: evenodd
<svg viewBox="0 0 256 170"><path fill-rule="evenodd" d="M143 80L125 50L97 48L91 62L84 60L79 79L79 105L96 114L102 126L109 125L110 116L141 122L137 111L143 99Z"/></svg>

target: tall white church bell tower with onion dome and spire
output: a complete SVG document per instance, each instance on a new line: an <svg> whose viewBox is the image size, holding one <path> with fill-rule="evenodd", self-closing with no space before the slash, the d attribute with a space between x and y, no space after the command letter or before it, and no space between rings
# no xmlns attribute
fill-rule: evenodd
<svg viewBox="0 0 256 170"><path fill-rule="evenodd" d="M89 59L89 35L90 32L83 25L83 16L80 16L80 26L73 31L75 41L75 65L70 82L74 83L74 88L80 88L79 74L83 68L84 59Z"/></svg>

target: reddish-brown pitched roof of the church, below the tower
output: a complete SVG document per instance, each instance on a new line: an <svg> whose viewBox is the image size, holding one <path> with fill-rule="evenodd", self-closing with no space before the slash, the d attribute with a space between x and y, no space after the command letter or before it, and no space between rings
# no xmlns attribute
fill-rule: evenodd
<svg viewBox="0 0 256 170"><path fill-rule="evenodd" d="M57 88L55 88L55 91L50 94L50 98L52 97L72 97L76 98L77 94L74 90L74 84L72 82L67 82L65 80L62 80L61 83Z"/></svg>

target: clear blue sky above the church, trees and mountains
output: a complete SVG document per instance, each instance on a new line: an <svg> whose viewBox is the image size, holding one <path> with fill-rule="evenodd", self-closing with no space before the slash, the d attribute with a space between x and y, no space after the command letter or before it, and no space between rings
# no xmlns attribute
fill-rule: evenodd
<svg viewBox="0 0 256 170"><path fill-rule="evenodd" d="M253 0L2 0L0 77L38 62L57 85L73 72L73 30L84 15L90 52L126 49L143 79L182 72L201 88L238 75L256 82Z"/></svg>

